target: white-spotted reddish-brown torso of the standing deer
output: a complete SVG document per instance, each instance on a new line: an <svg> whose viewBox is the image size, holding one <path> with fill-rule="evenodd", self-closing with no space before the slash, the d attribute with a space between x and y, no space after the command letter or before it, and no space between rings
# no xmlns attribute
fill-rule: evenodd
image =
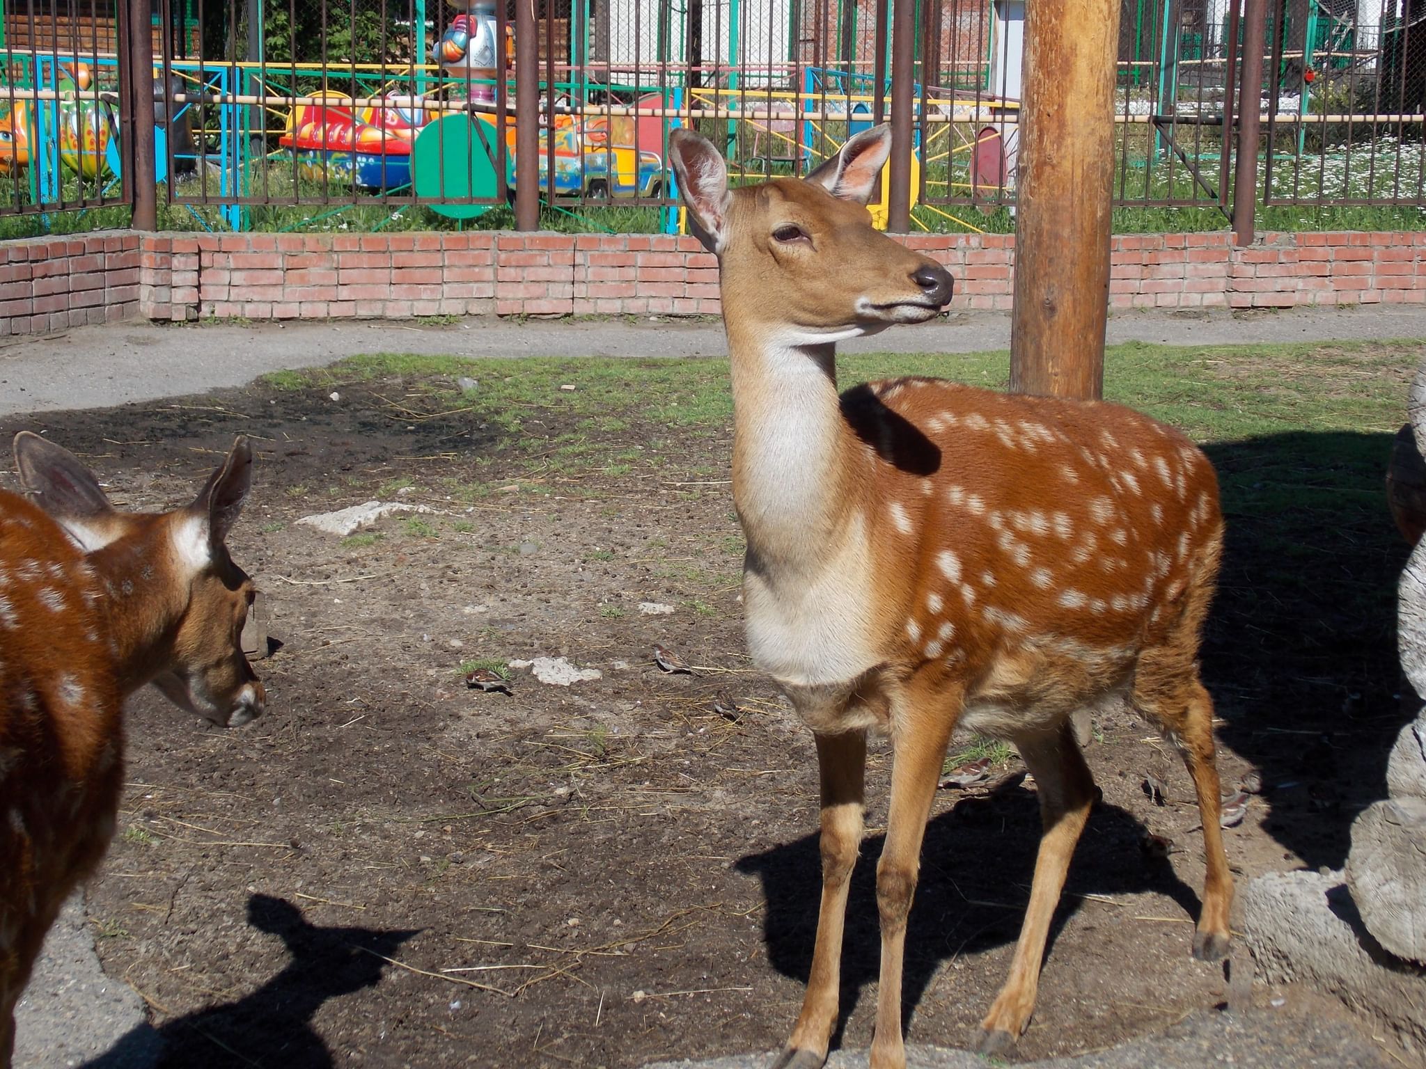
<svg viewBox="0 0 1426 1069"><path fill-rule="evenodd" d="M1040 680L1082 697L1182 641L1206 604L1218 482L1179 432L938 379L858 386L843 413L864 443L881 633L906 650L893 659L941 661L973 693L1034 703Z"/></svg>

